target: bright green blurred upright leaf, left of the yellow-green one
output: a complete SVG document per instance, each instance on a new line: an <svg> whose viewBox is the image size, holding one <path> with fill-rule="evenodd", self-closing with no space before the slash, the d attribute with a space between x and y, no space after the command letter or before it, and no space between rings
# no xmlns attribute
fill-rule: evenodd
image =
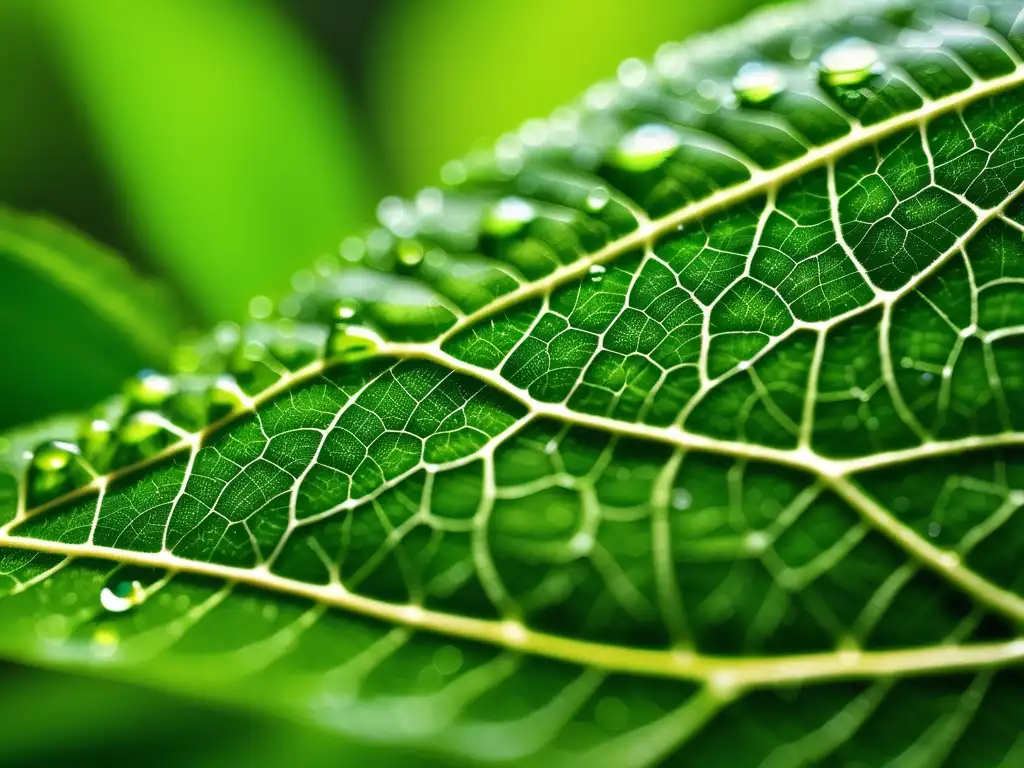
<svg viewBox="0 0 1024 768"><path fill-rule="evenodd" d="M264 2L41 0L137 236L208 318L366 223L337 84Z"/></svg>

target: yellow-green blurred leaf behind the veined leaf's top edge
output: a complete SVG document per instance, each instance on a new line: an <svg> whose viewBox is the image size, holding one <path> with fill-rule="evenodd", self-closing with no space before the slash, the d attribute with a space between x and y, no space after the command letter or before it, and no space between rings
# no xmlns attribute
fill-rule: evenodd
<svg viewBox="0 0 1024 768"><path fill-rule="evenodd" d="M403 0L381 24L371 96L389 171L411 194L441 164L545 117L629 56L764 0ZM571 42L568 42L571 41Z"/></svg>

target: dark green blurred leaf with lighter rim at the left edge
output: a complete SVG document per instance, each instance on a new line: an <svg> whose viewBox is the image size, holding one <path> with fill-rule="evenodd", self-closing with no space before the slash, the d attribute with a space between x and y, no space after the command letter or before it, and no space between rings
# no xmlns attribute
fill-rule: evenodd
<svg viewBox="0 0 1024 768"><path fill-rule="evenodd" d="M0 425L81 410L166 366L180 315L114 253L46 218L0 209Z"/></svg>

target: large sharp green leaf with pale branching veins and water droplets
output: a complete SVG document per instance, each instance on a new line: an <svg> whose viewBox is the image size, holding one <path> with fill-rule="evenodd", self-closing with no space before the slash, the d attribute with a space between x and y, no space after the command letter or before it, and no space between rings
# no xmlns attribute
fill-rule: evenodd
<svg viewBox="0 0 1024 768"><path fill-rule="evenodd" d="M15 435L0 651L478 761L1020 763L1022 6L869 5L664 48L112 441Z"/></svg>

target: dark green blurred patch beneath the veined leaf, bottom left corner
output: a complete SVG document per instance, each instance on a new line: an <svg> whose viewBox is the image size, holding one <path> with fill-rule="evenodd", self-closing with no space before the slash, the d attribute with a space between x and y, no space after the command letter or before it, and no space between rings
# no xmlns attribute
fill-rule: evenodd
<svg viewBox="0 0 1024 768"><path fill-rule="evenodd" d="M0 667L3 765L127 764L247 768L381 766L379 751L316 728L86 675ZM54 738L59 725L60 737ZM187 738L180 734L187 733ZM403 758L402 765L430 766Z"/></svg>

